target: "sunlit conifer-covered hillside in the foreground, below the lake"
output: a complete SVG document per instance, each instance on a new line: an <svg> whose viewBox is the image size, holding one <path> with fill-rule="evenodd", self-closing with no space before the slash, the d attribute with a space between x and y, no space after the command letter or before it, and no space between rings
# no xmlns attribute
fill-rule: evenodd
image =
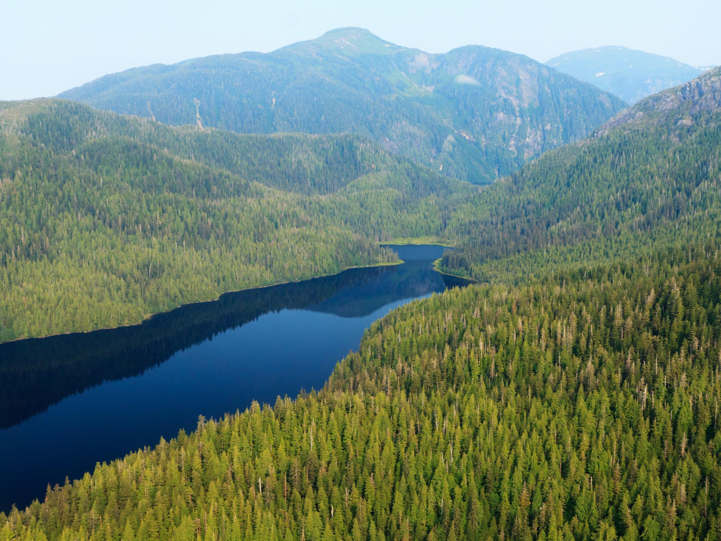
<svg viewBox="0 0 721 541"><path fill-rule="evenodd" d="M718 245L470 286L0 514L0 540L718 540Z"/></svg>

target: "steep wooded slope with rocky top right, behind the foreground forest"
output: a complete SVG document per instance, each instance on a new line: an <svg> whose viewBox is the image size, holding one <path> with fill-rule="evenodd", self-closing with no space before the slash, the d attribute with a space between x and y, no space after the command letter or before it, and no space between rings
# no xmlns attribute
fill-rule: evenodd
<svg viewBox="0 0 721 541"><path fill-rule="evenodd" d="M721 241L721 67L647 97L456 209L446 272L517 282ZM455 233L452 233L455 232Z"/></svg>

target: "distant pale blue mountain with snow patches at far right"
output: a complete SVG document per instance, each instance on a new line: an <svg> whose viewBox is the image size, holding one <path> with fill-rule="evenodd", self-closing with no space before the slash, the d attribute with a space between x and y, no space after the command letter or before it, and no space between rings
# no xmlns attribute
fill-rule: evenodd
<svg viewBox="0 0 721 541"><path fill-rule="evenodd" d="M689 66L668 56L618 45L573 50L551 58L545 64L629 103L676 87L715 67Z"/></svg>

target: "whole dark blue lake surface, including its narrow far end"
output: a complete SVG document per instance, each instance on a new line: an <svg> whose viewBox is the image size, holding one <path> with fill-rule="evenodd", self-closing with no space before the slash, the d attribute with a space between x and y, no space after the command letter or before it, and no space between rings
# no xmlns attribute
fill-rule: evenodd
<svg viewBox="0 0 721 541"><path fill-rule="evenodd" d="M142 325L0 345L0 511L252 400L320 389L389 310L466 281L406 263L224 294Z"/></svg>

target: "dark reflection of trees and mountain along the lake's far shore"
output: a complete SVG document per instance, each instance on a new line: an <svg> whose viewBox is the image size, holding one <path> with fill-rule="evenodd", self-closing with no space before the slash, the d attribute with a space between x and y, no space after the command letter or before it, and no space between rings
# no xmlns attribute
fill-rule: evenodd
<svg viewBox="0 0 721 541"><path fill-rule="evenodd" d="M189 304L141 325L20 340L0 345L0 428L43 412L76 392L142 374L177 351L268 312L311 309L342 317L368 315L384 304L461 283L428 261L350 269L335 276L224 294Z"/></svg>

